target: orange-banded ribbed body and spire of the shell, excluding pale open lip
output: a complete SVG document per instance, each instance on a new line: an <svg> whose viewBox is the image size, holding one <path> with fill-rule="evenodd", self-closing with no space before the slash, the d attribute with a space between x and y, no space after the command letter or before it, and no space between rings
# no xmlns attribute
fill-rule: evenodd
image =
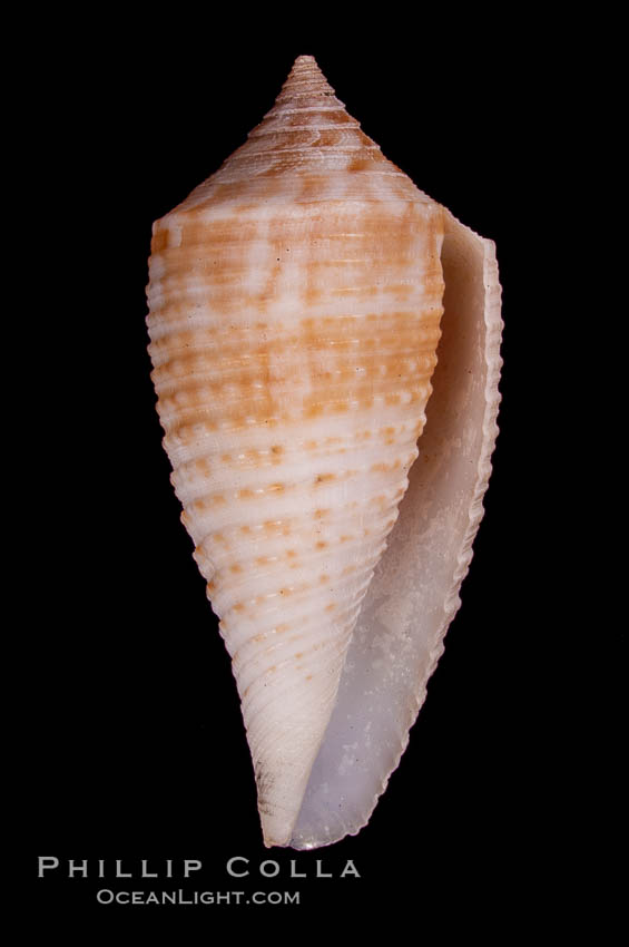
<svg viewBox="0 0 629 947"><path fill-rule="evenodd" d="M444 228L444 209L364 135L312 56L245 144L154 225L164 446L232 656L267 846L326 843L365 811L346 814L343 748L371 724L343 733L338 797L317 770L314 809L303 803L419 453ZM370 686L381 665L370 652L368 712L383 703ZM405 664L400 675L403 694L413 678Z"/></svg>

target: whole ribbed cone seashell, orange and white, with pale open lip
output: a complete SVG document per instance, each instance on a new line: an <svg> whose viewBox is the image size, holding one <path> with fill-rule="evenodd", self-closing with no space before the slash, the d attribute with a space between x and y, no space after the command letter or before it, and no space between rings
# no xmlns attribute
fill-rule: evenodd
<svg viewBox="0 0 629 947"><path fill-rule="evenodd" d="M149 267L164 446L264 841L330 845L368 821L460 604L498 430L494 246L301 56L155 223Z"/></svg>

